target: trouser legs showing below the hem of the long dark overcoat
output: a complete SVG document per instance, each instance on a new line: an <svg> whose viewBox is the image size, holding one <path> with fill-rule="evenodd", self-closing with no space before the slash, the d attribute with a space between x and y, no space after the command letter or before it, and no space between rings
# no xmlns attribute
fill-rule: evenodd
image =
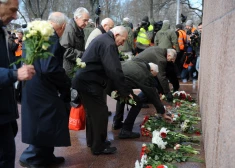
<svg viewBox="0 0 235 168"><path fill-rule="evenodd" d="M47 165L55 157L53 153L54 147L29 145L20 156L20 161L33 165Z"/></svg>

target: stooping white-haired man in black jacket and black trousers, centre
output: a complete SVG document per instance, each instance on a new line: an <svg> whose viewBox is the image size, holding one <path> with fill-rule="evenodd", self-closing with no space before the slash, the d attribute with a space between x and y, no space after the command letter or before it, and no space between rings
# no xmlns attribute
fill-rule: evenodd
<svg viewBox="0 0 235 168"><path fill-rule="evenodd" d="M72 82L86 110L87 146L91 147L94 155L112 154L117 150L110 147L110 141L106 141L108 107L105 88L112 80L121 96L126 97L131 92L125 83L118 53L118 46L123 45L126 39L126 29L116 26L92 40L82 57L86 67L77 71Z"/></svg>

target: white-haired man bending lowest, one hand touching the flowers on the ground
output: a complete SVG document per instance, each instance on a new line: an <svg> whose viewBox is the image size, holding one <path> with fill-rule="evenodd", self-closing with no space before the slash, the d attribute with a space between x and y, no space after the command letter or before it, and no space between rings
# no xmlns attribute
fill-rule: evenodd
<svg viewBox="0 0 235 168"><path fill-rule="evenodd" d="M165 114L165 108L161 103L158 92L154 85L154 76L158 73L158 66L153 63L146 63L139 60L129 60L122 64L122 70L126 78L126 83L130 89L140 89L148 98L148 100L154 105L157 113L161 114L165 120L171 120L169 116ZM142 108L142 101L138 96L134 96L136 105L132 105L124 123L122 124L124 106L125 103L117 101L116 115L114 116L113 128L119 129L122 127L119 138L139 138L140 134L132 132L133 125L137 115Z"/></svg>

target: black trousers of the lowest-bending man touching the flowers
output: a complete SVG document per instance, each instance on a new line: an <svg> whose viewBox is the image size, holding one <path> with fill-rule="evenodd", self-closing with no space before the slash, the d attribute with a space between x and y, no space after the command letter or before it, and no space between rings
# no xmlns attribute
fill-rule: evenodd
<svg viewBox="0 0 235 168"><path fill-rule="evenodd" d="M141 108L142 108L142 101L138 98L138 96L133 95L134 100L136 101L136 105L132 105L131 109L123 123L122 128L128 131L132 131L133 125L135 123L135 119L138 116ZM123 121L123 115L124 115L124 108L125 103L120 103L120 101L117 101L116 103L116 114L114 116L114 122L122 122Z"/></svg>

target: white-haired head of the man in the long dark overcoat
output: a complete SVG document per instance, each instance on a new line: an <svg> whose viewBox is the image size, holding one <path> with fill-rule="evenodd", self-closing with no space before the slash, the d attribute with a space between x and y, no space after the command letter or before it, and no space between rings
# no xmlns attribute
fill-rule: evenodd
<svg viewBox="0 0 235 168"><path fill-rule="evenodd" d="M61 12L52 12L48 17L48 21L53 26L57 35L61 37L68 22L67 16Z"/></svg>

